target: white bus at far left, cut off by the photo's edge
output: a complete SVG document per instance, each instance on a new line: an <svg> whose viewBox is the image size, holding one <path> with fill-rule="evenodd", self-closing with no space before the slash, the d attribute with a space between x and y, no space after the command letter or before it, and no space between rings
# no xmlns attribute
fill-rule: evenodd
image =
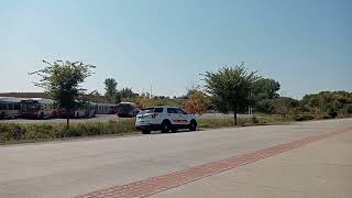
<svg viewBox="0 0 352 198"><path fill-rule="evenodd" d="M0 119L20 117L21 100L12 97L0 97Z"/></svg>

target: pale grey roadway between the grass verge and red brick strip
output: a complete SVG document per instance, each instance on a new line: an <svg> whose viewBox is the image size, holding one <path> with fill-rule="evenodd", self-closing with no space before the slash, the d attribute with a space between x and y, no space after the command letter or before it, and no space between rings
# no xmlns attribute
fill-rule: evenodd
<svg viewBox="0 0 352 198"><path fill-rule="evenodd" d="M0 146L0 197L73 197L352 127L352 119Z"/></svg>

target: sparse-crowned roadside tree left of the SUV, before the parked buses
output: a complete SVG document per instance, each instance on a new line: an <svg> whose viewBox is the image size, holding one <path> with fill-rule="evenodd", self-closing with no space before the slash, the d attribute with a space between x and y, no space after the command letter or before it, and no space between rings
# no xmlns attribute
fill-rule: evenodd
<svg viewBox="0 0 352 198"><path fill-rule="evenodd" d="M56 61L53 64L43 61L43 63L47 66L30 75L40 76L40 81L34 85L44 88L55 100L57 108L65 109L68 129L70 112L86 102L84 97L86 89L81 87L81 84L94 74L91 69L96 66L68 61Z"/></svg>

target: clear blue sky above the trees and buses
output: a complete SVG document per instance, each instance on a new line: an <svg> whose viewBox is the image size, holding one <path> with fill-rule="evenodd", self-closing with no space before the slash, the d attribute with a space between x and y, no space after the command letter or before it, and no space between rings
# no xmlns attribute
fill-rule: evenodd
<svg viewBox="0 0 352 198"><path fill-rule="evenodd" d="M199 73L245 62L300 98L352 91L349 0L7 0L0 2L0 92L38 91L42 59L97 65L88 90L178 96Z"/></svg>

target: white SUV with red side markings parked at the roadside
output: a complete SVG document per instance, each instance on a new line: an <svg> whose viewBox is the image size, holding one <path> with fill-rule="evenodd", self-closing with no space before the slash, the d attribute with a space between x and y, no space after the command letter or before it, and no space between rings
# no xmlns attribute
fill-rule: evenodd
<svg viewBox="0 0 352 198"><path fill-rule="evenodd" d="M136 116L135 128L143 134L158 130L163 133L176 132L177 129L196 131L197 121L194 114L188 114L177 107L158 106L142 109Z"/></svg>

